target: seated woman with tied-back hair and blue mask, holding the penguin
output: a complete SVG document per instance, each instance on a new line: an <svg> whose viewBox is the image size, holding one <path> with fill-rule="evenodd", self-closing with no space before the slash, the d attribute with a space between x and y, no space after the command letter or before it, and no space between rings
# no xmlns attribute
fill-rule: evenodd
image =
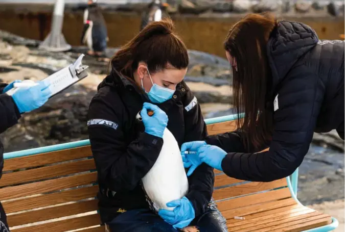
<svg viewBox="0 0 345 232"><path fill-rule="evenodd" d="M151 22L112 58L110 75L90 102L87 124L100 216L112 232L177 232L189 225L200 232L226 231L211 199L214 173L209 165L200 165L188 177L187 195L168 203L176 207L173 211L154 213L140 185L158 158L166 127L179 147L207 136L197 99L183 82L188 63L172 21ZM140 111L144 130L135 121Z"/></svg>

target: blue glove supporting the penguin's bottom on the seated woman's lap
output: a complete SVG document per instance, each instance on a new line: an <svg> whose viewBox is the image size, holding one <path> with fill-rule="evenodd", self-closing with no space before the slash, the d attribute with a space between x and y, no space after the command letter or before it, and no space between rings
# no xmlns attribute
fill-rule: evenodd
<svg viewBox="0 0 345 232"><path fill-rule="evenodd" d="M187 197L170 201L167 203L167 207L175 207L175 209L173 211L159 210L158 215L164 221L173 225L175 229L188 226L195 218L193 205Z"/></svg>

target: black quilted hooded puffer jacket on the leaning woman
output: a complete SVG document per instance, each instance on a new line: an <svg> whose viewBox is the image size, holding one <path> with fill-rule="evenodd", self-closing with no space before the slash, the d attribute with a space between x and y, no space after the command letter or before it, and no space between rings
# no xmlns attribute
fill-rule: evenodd
<svg viewBox="0 0 345 232"><path fill-rule="evenodd" d="M273 112L274 129L269 151L244 149L240 130L206 139L229 152L222 161L224 172L248 181L292 174L313 132L336 129L344 138L344 41L319 40L308 25L281 21L270 35L267 55L272 82L266 110Z"/></svg>

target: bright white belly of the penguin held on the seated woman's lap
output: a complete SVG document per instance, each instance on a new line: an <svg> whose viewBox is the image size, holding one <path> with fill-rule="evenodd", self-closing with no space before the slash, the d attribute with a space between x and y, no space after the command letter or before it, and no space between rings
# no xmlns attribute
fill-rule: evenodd
<svg viewBox="0 0 345 232"><path fill-rule="evenodd" d="M183 167L178 143L173 134L165 128L163 147L150 171L143 177L143 188L153 210L172 210L167 203L185 196L188 179Z"/></svg>

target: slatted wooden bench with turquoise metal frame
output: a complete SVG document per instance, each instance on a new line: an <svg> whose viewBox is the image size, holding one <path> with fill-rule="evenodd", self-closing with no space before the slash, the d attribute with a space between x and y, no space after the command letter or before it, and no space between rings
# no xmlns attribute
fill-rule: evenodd
<svg viewBox="0 0 345 232"><path fill-rule="evenodd" d="M211 135L234 129L235 121L208 125ZM5 154L0 199L11 231L105 231L97 214L97 172L87 144L79 141ZM61 149L67 146L75 147ZM286 178L255 183L215 173L213 197L229 231L302 231L320 226L315 231L330 231L337 226L336 219L332 223L331 216L296 201Z"/></svg>

